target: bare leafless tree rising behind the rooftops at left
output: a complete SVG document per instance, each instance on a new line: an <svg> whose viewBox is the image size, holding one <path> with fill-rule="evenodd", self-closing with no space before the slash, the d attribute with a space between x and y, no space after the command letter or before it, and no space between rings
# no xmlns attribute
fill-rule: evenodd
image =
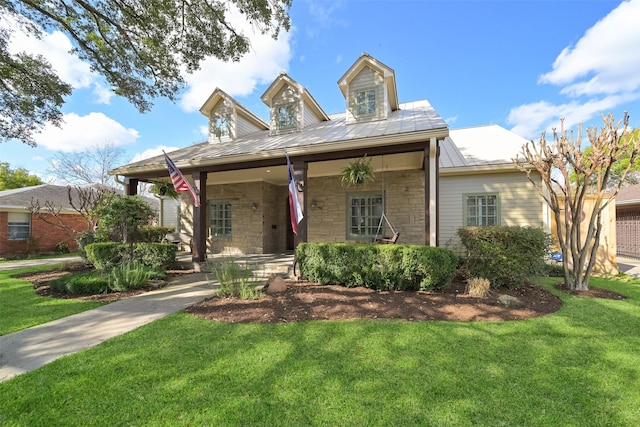
<svg viewBox="0 0 640 427"><path fill-rule="evenodd" d="M75 153L59 153L49 165L49 172L68 184L101 184L114 186L109 175L122 163L124 150L114 144L95 145Z"/></svg>

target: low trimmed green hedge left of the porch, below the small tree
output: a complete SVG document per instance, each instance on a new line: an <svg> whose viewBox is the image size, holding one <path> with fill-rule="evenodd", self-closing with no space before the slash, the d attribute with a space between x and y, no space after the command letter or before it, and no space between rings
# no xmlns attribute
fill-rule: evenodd
<svg viewBox="0 0 640 427"><path fill-rule="evenodd" d="M98 270L111 270L113 267L130 261L131 245L128 243L104 242L91 243L85 248L87 259ZM171 243L135 243L133 259L146 267L166 270L176 263L176 245Z"/></svg>

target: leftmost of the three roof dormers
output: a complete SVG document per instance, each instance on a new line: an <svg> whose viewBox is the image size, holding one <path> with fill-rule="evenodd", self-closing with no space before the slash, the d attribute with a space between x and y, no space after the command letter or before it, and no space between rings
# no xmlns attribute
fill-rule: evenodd
<svg viewBox="0 0 640 427"><path fill-rule="evenodd" d="M200 107L200 112L209 119L209 142L233 141L243 135L269 129L264 120L219 88Z"/></svg>

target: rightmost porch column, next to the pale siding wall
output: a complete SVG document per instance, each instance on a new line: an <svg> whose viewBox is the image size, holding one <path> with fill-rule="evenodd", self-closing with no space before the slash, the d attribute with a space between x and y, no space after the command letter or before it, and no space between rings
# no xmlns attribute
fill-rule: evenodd
<svg viewBox="0 0 640 427"><path fill-rule="evenodd" d="M424 149L424 244L438 244L438 141L432 137Z"/></svg>

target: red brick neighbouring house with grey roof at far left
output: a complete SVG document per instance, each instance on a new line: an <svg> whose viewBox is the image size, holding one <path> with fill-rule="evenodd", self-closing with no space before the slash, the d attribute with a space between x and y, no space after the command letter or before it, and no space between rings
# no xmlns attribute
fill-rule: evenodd
<svg viewBox="0 0 640 427"><path fill-rule="evenodd" d="M61 244L77 250L77 234L89 228L74 208L82 205L84 190L93 187L42 184L0 191L0 257L55 252ZM157 210L157 201L147 201ZM57 216L48 213L47 205ZM36 206L41 215L31 213Z"/></svg>

